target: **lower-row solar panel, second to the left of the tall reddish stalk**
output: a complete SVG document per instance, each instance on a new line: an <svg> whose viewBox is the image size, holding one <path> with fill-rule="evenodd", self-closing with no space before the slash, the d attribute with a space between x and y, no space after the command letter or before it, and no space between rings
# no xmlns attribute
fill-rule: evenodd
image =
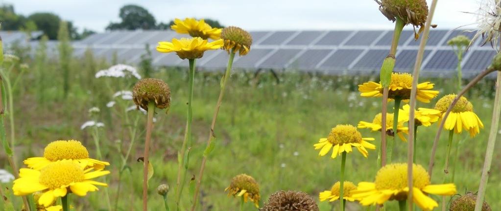
<svg viewBox="0 0 501 211"><path fill-rule="evenodd" d="M325 60L320 67L324 69L348 69L348 66L357 58L364 50L361 49L339 49Z"/></svg>

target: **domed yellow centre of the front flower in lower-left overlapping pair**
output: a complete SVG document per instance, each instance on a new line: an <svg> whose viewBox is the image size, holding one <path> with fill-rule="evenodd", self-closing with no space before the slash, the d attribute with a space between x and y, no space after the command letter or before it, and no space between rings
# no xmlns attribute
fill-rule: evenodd
<svg viewBox="0 0 501 211"><path fill-rule="evenodd" d="M40 170L39 182L50 189L84 180L84 170L72 161L53 162Z"/></svg>

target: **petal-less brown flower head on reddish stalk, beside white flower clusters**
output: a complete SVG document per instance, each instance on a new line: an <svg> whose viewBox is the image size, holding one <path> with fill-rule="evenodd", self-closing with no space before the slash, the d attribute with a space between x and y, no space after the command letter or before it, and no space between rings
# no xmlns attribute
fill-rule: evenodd
<svg viewBox="0 0 501 211"><path fill-rule="evenodd" d="M156 78L144 78L137 81L132 90L132 100L138 109L142 107L148 110L148 102L154 101L157 108L169 109L170 88L163 80Z"/></svg>

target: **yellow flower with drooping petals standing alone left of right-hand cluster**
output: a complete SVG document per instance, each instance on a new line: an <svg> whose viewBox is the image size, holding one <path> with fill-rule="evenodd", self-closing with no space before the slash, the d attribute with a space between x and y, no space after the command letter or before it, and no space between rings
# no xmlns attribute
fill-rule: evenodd
<svg viewBox="0 0 501 211"><path fill-rule="evenodd" d="M327 138L320 138L319 142L314 144L315 149L320 149L319 155L326 155L331 148L331 158L336 158L339 154L351 152L351 147L356 147L364 157L367 157L368 149L375 149L376 146L367 140L374 140L372 137L362 137L362 134L357 131L357 128L350 124L338 124L331 129Z"/></svg>

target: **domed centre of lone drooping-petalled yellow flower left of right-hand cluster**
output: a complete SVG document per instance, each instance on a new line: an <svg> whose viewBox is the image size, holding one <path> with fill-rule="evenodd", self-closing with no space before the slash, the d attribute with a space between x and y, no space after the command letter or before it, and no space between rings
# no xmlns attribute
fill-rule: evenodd
<svg viewBox="0 0 501 211"><path fill-rule="evenodd" d="M362 134L353 125L338 124L332 128L327 140L332 144L359 143L362 140Z"/></svg>

